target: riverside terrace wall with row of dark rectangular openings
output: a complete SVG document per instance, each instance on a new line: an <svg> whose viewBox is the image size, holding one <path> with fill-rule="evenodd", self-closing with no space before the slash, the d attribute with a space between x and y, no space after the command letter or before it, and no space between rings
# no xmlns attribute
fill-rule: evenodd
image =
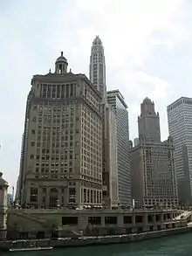
<svg viewBox="0 0 192 256"><path fill-rule="evenodd" d="M86 231L97 229L99 234L113 230L115 233L134 233L165 230L187 225L178 220L181 210L16 210L8 213L8 226L17 223L21 232L43 231L45 222L57 219L59 229L71 227ZM28 230L26 230L26 227ZM30 230L29 230L30 229Z"/></svg>

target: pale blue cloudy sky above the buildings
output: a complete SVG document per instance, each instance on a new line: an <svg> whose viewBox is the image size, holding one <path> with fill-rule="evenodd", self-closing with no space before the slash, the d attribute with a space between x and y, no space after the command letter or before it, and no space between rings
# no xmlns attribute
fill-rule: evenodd
<svg viewBox="0 0 192 256"><path fill-rule="evenodd" d="M17 183L27 94L34 74L54 69L63 51L72 73L88 77L91 46L101 38L106 86L128 105L130 139L138 135L141 101L154 100L161 140L167 106L192 97L191 0L0 1L0 166Z"/></svg>

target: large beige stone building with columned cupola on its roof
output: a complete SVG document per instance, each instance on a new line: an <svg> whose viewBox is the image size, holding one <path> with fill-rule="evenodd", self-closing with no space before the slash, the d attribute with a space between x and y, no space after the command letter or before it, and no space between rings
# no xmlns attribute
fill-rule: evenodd
<svg viewBox="0 0 192 256"><path fill-rule="evenodd" d="M55 72L31 80L20 169L21 204L83 208L102 204L102 97L84 74Z"/></svg>

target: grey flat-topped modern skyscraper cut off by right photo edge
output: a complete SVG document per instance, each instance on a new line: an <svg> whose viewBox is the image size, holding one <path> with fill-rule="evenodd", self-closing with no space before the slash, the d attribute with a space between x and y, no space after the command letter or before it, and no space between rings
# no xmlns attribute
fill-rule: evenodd
<svg viewBox="0 0 192 256"><path fill-rule="evenodd" d="M174 139L175 170L181 204L192 204L192 99L182 97L167 107L168 131Z"/></svg>

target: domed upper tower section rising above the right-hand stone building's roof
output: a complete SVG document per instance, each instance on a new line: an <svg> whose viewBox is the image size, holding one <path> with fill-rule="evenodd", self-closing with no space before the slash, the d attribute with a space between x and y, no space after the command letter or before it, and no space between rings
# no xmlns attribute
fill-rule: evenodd
<svg viewBox="0 0 192 256"><path fill-rule="evenodd" d="M139 138L148 142L161 142L160 116L155 113L154 102L145 98L138 116Z"/></svg>

